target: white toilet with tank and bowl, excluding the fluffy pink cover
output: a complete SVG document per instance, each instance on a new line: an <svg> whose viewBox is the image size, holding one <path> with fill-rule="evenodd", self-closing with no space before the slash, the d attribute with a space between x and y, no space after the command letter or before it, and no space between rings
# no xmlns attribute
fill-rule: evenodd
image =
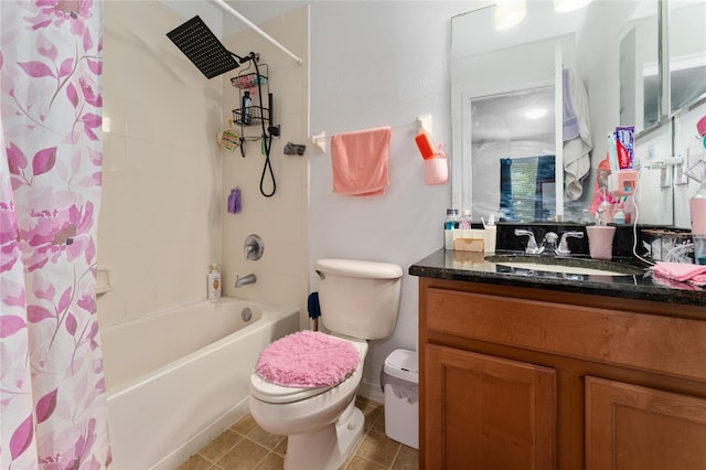
<svg viewBox="0 0 706 470"><path fill-rule="evenodd" d="M250 376L250 414L265 430L288 436L285 469L338 469L363 432L355 407L367 340L392 334L397 321L403 270L352 259L320 259L321 321L331 337L355 346L360 364L335 385L301 388ZM315 351L311 351L315 354ZM354 355L353 355L354 357Z"/></svg>

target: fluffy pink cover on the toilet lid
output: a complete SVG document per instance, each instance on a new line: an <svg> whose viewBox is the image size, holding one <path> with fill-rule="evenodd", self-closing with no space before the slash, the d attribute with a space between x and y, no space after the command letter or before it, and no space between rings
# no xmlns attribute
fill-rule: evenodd
<svg viewBox="0 0 706 470"><path fill-rule="evenodd" d="M267 346L255 371L268 382L291 387L333 386L361 363L347 341L315 331L298 331Z"/></svg>

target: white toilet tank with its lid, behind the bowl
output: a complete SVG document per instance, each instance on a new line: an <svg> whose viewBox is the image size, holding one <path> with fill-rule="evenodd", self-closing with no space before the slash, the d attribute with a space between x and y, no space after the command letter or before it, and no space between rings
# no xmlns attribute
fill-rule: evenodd
<svg viewBox="0 0 706 470"><path fill-rule="evenodd" d="M321 321L327 330L362 340L393 333L399 311L402 268L387 263L320 259Z"/></svg>

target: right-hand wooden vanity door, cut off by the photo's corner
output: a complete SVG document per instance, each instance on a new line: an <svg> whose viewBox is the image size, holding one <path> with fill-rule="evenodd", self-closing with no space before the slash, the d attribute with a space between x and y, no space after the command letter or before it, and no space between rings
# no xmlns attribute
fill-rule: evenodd
<svg viewBox="0 0 706 470"><path fill-rule="evenodd" d="M586 468L704 470L706 399L586 377Z"/></svg>

